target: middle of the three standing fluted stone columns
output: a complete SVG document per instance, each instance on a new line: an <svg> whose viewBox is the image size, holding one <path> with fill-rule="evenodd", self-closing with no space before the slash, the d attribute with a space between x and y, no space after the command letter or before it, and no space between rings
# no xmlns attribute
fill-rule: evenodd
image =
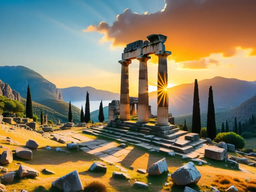
<svg viewBox="0 0 256 192"><path fill-rule="evenodd" d="M151 57L141 55L136 58L140 61L137 123L148 123L147 60Z"/></svg>

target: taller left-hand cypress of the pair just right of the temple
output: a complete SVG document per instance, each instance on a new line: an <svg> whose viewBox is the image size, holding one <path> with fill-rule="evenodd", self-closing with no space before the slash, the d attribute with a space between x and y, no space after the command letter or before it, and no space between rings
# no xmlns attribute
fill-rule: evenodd
<svg viewBox="0 0 256 192"><path fill-rule="evenodd" d="M191 132L197 133L200 135L200 131L201 131L201 116L200 116L199 92L198 92L197 79L195 79Z"/></svg>

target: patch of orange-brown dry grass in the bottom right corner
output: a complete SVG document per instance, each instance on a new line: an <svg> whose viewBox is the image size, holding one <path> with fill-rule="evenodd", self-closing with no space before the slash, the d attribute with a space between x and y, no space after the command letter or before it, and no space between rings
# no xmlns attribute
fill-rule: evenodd
<svg viewBox="0 0 256 192"><path fill-rule="evenodd" d="M220 191L226 191L231 185L234 185L238 191L249 192L256 191L256 180L250 180L246 182L245 179L238 177L230 177L228 175L216 175L216 179L213 181L212 186L215 186Z"/></svg>

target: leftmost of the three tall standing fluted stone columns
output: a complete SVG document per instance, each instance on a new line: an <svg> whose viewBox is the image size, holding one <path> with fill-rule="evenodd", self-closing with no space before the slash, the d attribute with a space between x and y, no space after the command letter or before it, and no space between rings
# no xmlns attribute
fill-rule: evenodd
<svg viewBox="0 0 256 192"><path fill-rule="evenodd" d="M120 120L130 120L130 98L129 98L129 64L131 60L119 61L121 68L121 90L120 90Z"/></svg>

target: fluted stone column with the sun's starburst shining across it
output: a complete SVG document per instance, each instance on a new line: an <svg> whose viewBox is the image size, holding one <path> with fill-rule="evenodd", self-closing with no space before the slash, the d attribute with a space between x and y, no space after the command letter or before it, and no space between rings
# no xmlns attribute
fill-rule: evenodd
<svg viewBox="0 0 256 192"><path fill-rule="evenodd" d="M171 55L170 51L157 51L158 56L158 74L157 74L157 126L168 126L168 75L167 75L167 57Z"/></svg>

